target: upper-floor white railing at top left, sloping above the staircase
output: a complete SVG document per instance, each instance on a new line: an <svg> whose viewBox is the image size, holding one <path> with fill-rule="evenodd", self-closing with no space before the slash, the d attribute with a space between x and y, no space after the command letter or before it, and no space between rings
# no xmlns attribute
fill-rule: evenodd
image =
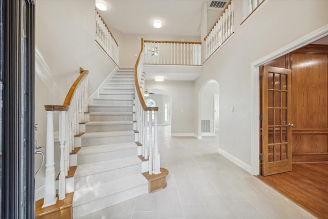
<svg viewBox="0 0 328 219"><path fill-rule="evenodd" d="M96 9L96 42L118 66L118 43Z"/></svg>

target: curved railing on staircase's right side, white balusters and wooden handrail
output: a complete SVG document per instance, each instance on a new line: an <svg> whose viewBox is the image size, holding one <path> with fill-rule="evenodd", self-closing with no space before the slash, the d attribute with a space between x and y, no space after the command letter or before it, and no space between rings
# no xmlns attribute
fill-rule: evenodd
<svg viewBox="0 0 328 219"><path fill-rule="evenodd" d="M157 138L157 111L158 107L147 107L142 95L141 89L144 89L142 78L142 65L144 64L144 38L141 38L141 51L137 58L134 68L135 74L135 116L138 127L138 143L141 144L141 155L149 161L148 173L160 173L160 154L158 150ZM141 83L142 82L142 83ZM154 126L152 122L152 114L154 113Z"/></svg>

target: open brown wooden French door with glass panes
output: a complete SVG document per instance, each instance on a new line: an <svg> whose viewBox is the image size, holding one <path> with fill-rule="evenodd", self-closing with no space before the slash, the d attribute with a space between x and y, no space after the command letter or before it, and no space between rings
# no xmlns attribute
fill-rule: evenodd
<svg viewBox="0 0 328 219"><path fill-rule="evenodd" d="M292 75L290 69L261 67L262 175L292 171Z"/></svg>

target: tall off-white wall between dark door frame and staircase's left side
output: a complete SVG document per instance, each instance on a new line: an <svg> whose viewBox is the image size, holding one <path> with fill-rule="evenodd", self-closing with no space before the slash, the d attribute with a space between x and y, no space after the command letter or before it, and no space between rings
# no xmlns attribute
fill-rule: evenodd
<svg viewBox="0 0 328 219"><path fill-rule="evenodd" d="M89 70L90 95L116 66L95 44L94 1L80 0L76 4L70 0L36 0L35 8L35 123L39 124L35 140L45 146L44 105L64 103L69 88L79 75L79 67ZM58 122L55 120L55 123ZM55 130L57 127L55 125ZM35 160L37 168L40 157L36 156ZM36 190L44 185L44 172L43 168L36 176Z"/></svg>

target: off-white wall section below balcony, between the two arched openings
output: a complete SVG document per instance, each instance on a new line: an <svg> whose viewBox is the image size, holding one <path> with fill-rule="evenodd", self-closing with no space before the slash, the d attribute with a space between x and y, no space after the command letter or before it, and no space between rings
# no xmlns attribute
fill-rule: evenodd
<svg viewBox="0 0 328 219"><path fill-rule="evenodd" d="M170 93L172 135L193 134L194 125L194 82L193 81L146 81L146 89L160 89Z"/></svg>

